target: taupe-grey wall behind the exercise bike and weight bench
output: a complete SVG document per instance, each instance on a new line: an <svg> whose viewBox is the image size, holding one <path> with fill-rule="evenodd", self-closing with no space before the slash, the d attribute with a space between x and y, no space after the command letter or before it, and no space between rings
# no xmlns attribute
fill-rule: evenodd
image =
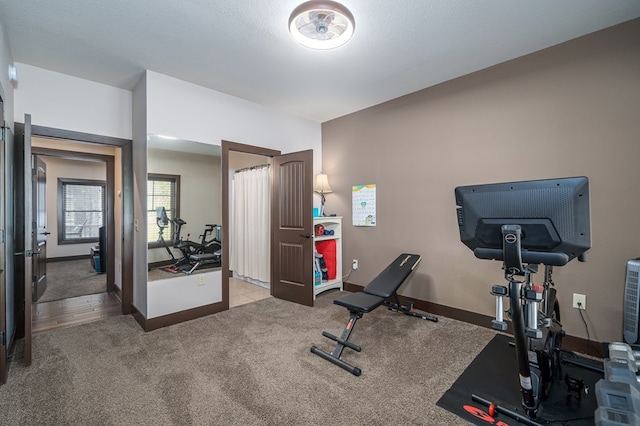
<svg viewBox="0 0 640 426"><path fill-rule="evenodd" d="M506 35L505 35L506 36ZM587 263L554 273L562 323L587 296L591 340L622 339L624 273L640 256L640 20L593 33L322 125L328 212L344 216L349 282L366 285L400 252L423 256L401 293L493 315L499 262L459 240L458 185L585 175ZM377 185L377 226L351 225L351 186ZM537 279L540 283L541 278Z"/></svg>

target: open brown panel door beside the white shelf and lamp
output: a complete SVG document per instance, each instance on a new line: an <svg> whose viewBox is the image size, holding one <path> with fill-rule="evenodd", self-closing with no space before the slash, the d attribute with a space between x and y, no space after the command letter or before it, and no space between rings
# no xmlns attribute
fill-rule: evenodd
<svg viewBox="0 0 640 426"><path fill-rule="evenodd" d="M313 151L273 160L271 293L313 306Z"/></svg>

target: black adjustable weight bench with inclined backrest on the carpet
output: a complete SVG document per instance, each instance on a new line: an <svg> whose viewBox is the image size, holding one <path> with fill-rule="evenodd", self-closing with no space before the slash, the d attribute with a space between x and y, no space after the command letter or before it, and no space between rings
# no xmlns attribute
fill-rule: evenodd
<svg viewBox="0 0 640 426"><path fill-rule="evenodd" d="M312 346L311 352L334 363L338 367L344 368L354 376L359 376L362 370L343 361L341 356L344 348L353 349L356 352L361 351L360 346L349 342L349 336L353 331L356 321L362 318L364 314L373 311L380 305L385 305L395 312L437 322L438 318L434 316L415 312L412 302L408 302L406 306L400 305L400 299L398 298L398 288L400 288L402 283L404 283L411 272L418 266L420 260L422 260L422 258L417 254L401 254L387 266L384 271L375 277L373 281L367 284L362 292L351 293L334 300L333 303L349 310L349 321L340 337L334 336L326 331L322 332L324 337L337 343L333 352L327 353L317 346Z"/></svg>

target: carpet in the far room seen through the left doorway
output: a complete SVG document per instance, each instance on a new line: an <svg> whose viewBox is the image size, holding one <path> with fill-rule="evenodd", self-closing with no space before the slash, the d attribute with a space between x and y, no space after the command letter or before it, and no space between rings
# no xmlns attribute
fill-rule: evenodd
<svg viewBox="0 0 640 426"><path fill-rule="evenodd" d="M107 275L97 274L89 259L47 263L47 289L38 303L107 291Z"/></svg>

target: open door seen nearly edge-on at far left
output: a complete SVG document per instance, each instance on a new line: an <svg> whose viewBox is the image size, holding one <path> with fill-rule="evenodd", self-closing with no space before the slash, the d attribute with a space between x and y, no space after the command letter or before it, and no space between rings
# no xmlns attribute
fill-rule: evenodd
<svg viewBox="0 0 640 426"><path fill-rule="evenodd" d="M24 339L24 363L31 365L31 292L33 271L33 191L31 182L31 115L14 138L16 338Z"/></svg>

